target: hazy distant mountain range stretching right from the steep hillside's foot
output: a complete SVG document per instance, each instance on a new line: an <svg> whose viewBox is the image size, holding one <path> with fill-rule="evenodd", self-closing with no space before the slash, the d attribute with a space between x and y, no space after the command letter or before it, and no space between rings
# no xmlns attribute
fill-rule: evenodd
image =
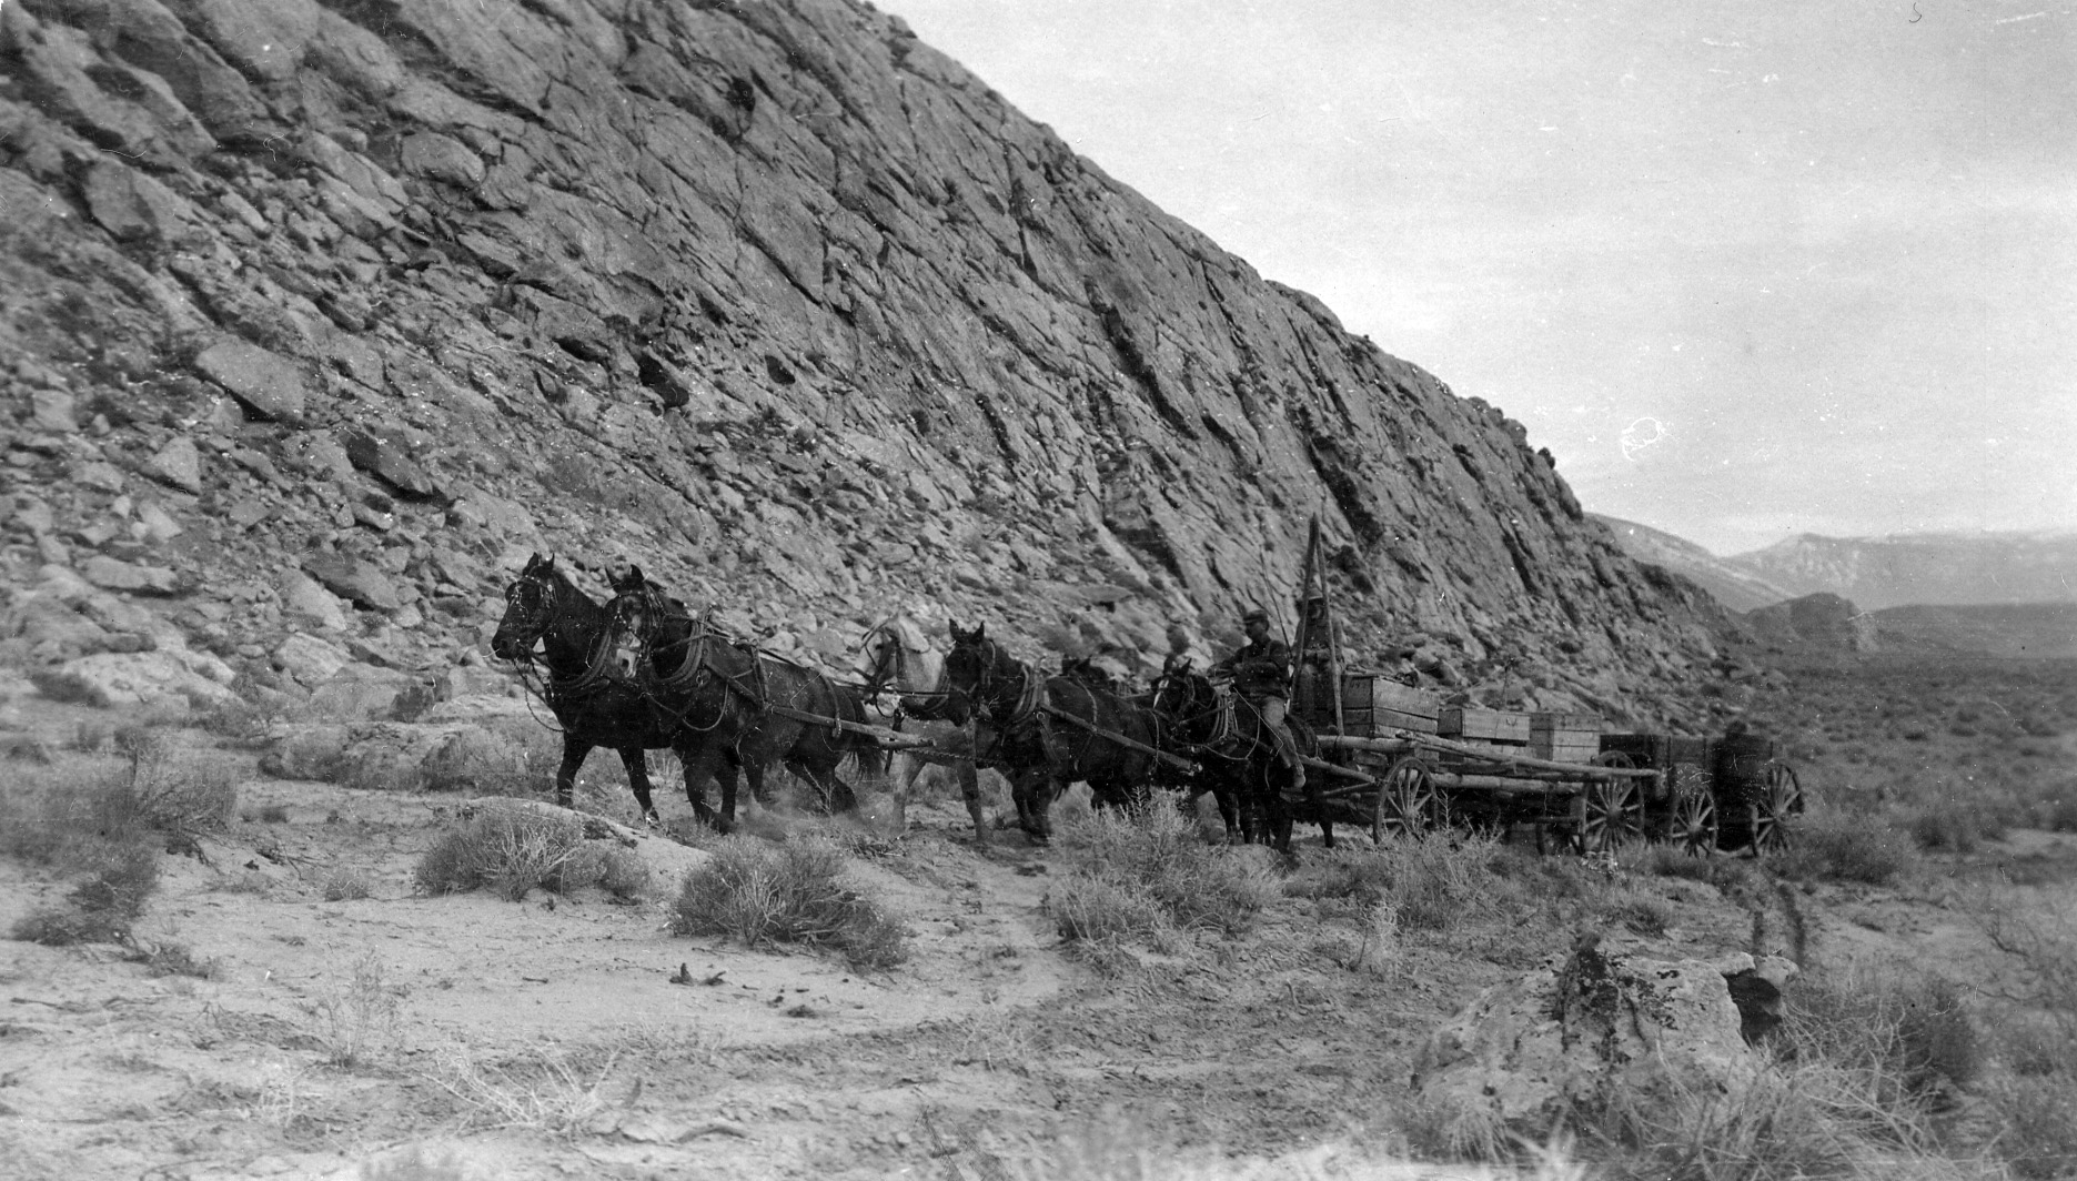
<svg viewBox="0 0 2077 1181"><path fill-rule="evenodd" d="M1639 562L1687 575L1741 612L1809 594L1836 594L1861 610L2077 604L2077 533L1801 533L1765 550L1718 558L1672 533L1597 519Z"/></svg>

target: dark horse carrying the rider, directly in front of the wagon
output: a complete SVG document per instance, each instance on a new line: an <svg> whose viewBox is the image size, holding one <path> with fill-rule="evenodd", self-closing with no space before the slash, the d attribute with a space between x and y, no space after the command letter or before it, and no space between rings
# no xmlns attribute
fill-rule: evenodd
<svg viewBox="0 0 2077 1181"><path fill-rule="evenodd" d="M1284 793L1292 768L1284 766L1269 726L1250 702L1225 693L1211 677L1171 656L1155 681L1153 708L1169 720L1171 743L1196 760L1190 795L1209 791L1219 801L1225 839L1236 836L1292 851L1292 809ZM1304 735L1294 737L1304 743Z"/></svg>

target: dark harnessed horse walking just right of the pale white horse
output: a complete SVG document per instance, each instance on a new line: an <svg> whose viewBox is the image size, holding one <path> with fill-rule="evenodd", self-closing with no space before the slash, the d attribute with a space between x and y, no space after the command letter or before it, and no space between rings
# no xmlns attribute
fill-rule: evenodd
<svg viewBox="0 0 2077 1181"><path fill-rule="evenodd" d="M1074 677L1045 679L984 631L951 627L939 683L943 714L955 724L978 716L995 731L991 749L976 753L1003 766L1024 832L1034 841L1053 836L1049 814L1070 782L1086 780L1097 803L1111 807L1144 801L1157 760L1138 747L1161 745L1155 712Z"/></svg>

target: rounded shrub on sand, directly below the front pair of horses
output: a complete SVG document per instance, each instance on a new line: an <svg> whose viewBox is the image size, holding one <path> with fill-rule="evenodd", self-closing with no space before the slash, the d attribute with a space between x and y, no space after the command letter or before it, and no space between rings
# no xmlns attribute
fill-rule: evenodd
<svg viewBox="0 0 2077 1181"><path fill-rule="evenodd" d="M829 946L858 967L908 959L908 930L847 880L827 841L766 845L729 836L685 874L671 907L673 934L721 934L750 946Z"/></svg>

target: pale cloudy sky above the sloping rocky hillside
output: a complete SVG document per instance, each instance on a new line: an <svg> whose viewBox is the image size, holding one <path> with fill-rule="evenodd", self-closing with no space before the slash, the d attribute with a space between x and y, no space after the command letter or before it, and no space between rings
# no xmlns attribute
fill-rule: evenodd
<svg viewBox="0 0 2077 1181"><path fill-rule="evenodd" d="M881 0L1718 554L2077 529L2077 0Z"/></svg>

